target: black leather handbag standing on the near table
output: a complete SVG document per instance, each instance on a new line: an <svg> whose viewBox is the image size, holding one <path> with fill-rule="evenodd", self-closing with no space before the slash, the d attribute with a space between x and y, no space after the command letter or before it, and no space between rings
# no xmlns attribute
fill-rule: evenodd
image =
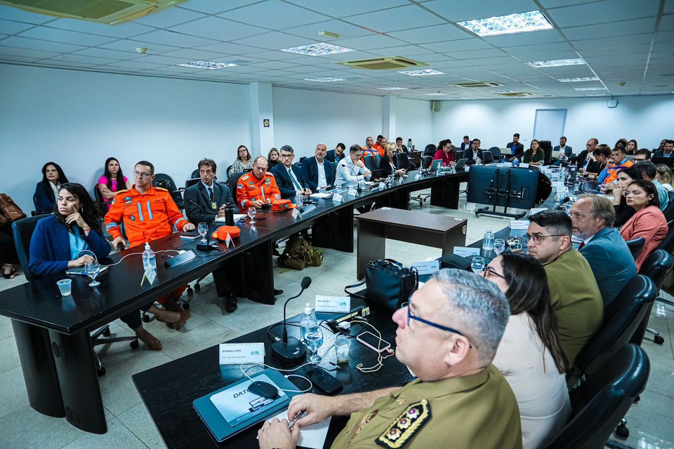
<svg viewBox="0 0 674 449"><path fill-rule="evenodd" d="M347 289L362 286L367 288L366 296L355 295ZM365 268L365 281L346 286L344 291L351 296L364 297L397 310L409 302L409 297L419 286L419 272L415 267L405 268L392 259L371 260Z"/></svg>

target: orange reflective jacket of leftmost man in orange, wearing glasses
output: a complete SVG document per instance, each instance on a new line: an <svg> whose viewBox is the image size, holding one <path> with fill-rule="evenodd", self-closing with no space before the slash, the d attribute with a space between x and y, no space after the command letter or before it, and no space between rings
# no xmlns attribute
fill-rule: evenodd
<svg viewBox="0 0 674 449"><path fill-rule="evenodd" d="M171 225L182 231L189 223L169 191L152 185L144 194L138 192L136 186L117 192L105 214L105 230L114 239L121 236L119 225L122 221L130 246L170 236L173 233Z"/></svg>

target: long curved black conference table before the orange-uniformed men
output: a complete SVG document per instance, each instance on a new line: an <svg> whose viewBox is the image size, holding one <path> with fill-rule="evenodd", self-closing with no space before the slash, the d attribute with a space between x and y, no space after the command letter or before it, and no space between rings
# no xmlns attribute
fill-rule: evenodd
<svg viewBox="0 0 674 449"><path fill-rule="evenodd" d="M393 208L409 208L409 194L430 187L431 204L458 207L461 182L468 173L435 175L416 171L397 177L385 189L372 188L351 196L342 192L342 201L317 200L303 208L301 216L290 210L263 212L264 220L251 226L248 219L239 227L241 235L227 248L220 242L216 251L196 249L196 241L175 233L152 242L157 253L157 276L153 283L141 284L142 247L114 253L104 264L119 262L98 277L100 286L91 288L84 276L72 278L72 295L61 297L56 281L63 276L45 276L0 292L0 315L12 321L18 354L26 383L29 404L53 417L66 417L74 427L104 434L107 431L89 333L114 319L166 295L180 286L206 276L219 267L228 267L242 281L234 292L241 297L274 304L272 246L275 241L312 227L313 244L319 248L353 251L353 209L378 202ZM376 186L375 186L376 187ZM209 231L212 232L214 226ZM160 251L168 253L160 253ZM176 250L192 250L196 257L173 268L164 267L163 257ZM255 270L239 262L252 260ZM238 271L237 271L238 270Z"/></svg>

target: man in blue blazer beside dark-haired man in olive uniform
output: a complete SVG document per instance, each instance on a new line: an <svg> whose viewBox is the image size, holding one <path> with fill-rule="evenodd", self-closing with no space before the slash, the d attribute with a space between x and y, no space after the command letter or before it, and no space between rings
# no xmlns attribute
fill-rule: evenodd
<svg viewBox="0 0 674 449"><path fill-rule="evenodd" d="M583 239L579 251L590 264L604 307L637 275L637 266L618 229L613 204L604 196L581 195L571 206L574 234ZM569 280L571 281L571 280Z"/></svg>

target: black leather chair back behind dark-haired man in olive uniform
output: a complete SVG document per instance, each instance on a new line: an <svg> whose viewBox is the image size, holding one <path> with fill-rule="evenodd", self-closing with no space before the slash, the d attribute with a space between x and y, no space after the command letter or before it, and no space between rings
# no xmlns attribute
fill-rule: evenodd
<svg viewBox="0 0 674 449"><path fill-rule="evenodd" d="M637 274L604 309L604 325L576 356L574 375L595 374L615 352L627 344L658 294L655 283Z"/></svg>

